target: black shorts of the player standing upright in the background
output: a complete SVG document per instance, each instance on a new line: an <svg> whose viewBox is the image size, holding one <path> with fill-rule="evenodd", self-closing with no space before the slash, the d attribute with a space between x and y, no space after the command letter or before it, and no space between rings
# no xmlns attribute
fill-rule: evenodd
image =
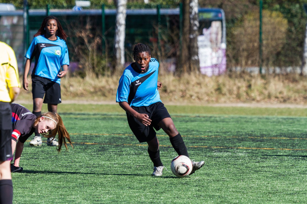
<svg viewBox="0 0 307 204"><path fill-rule="evenodd" d="M32 77L32 96L33 99L44 98L43 103L59 104L61 103L60 84L41 76L34 76Z"/></svg>

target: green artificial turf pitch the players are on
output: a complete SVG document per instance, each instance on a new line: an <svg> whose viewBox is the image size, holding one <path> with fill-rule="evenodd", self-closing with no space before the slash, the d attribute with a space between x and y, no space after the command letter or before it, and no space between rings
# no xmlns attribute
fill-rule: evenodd
<svg viewBox="0 0 307 204"><path fill-rule="evenodd" d="M132 135L119 106L63 104L59 113L74 149L57 153L46 139L41 147L30 147L30 137L21 155L24 170L12 173L13 203L307 202L305 113L176 107L167 106L190 158L205 161L193 175L173 175L176 152L160 130L168 171L152 177L147 145Z"/></svg>

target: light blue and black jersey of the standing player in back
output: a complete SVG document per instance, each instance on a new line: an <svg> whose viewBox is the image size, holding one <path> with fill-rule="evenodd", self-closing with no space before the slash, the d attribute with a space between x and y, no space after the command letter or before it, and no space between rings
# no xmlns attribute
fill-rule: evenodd
<svg viewBox="0 0 307 204"><path fill-rule="evenodd" d="M45 77L56 83L60 83L57 74L63 65L69 65L68 50L64 40L56 36L52 41L44 35L34 37L25 57L35 57L34 69L31 76Z"/></svg>

